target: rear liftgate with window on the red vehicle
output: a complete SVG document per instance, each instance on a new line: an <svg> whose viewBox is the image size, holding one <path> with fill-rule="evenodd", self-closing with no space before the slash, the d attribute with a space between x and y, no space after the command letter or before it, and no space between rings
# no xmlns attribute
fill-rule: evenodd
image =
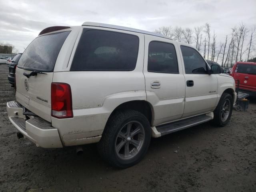
<svg viewBox="0 0 256 192"><path fill-rule="evenodd" d="M234 79L240 80L240 88L256 91L256 64L238 63L234 69Z"/></svg>

